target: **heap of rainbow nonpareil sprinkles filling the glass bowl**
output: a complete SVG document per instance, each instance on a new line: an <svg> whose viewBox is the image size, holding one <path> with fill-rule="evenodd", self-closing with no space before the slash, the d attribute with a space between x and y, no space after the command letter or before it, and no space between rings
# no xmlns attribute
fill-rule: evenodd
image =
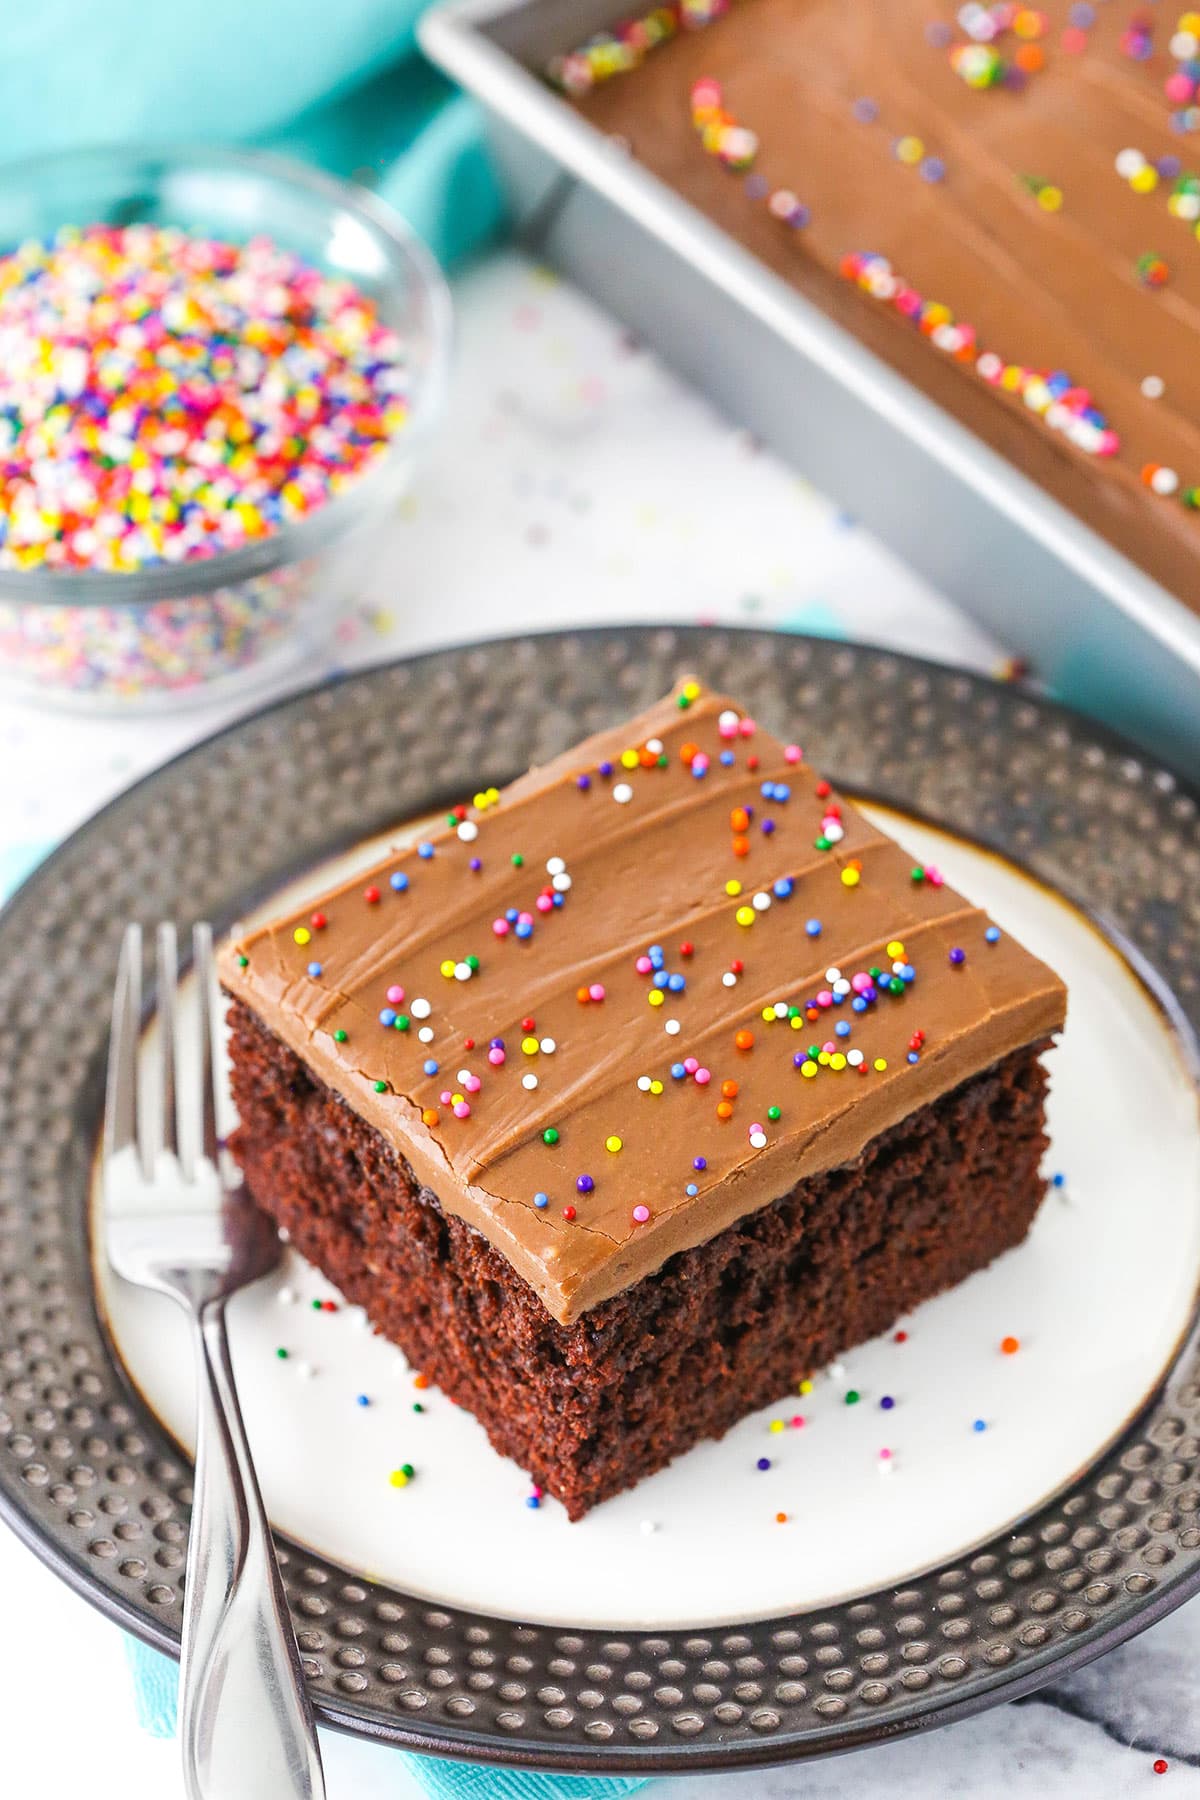
<svg viewBox="0 0 1200 1800"><path fill-rule="evenodd" d="M405 387L372 302L266 238L27 243L0 259L0 569L241 549L360 475Z"/></svg>

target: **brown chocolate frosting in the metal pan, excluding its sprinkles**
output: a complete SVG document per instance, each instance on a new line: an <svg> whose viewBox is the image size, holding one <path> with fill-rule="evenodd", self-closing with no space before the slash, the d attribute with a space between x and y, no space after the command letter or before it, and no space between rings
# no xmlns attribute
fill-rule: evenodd
<svg viewBox="0 0 1200 1800"><path fill-rule="evenodd" d="M1184 7L1141 9L1151 32L1135 59L1123 38L1137 9L1097 4L1070 50L1063 27L1079 9L1045 0L1049 29L1036 43L1045 67L1020 92L970 88L948 47L928 41L932 23L968 41L957 11L946 0L734 0L723 18L682 32L578 106L1196 608L1200 511L1178 493L1200 486L1200 243L1191 221L1168 212L1173 175L1144 194L1115 169L1132 148L1200 171L1200 131L1171 128L1182 108L1164 94L1182 67L1169 43ZM1018 49L1013 32L997 41L1007 59ZM723 106L759 139L754 182L790 189L811 212L806 229L774 218L745 173L705 155L689 104L703 77L720 81ZM860 101L878 108L871 122L855 117ZM939 182L898 158L903 137L945 166ZM1038 203L1038 184L1060 189L1060 211ZM1065 371L1088 389L1119 454L1069 446L1020 398L990 387L973 358L955 362L840 279L842 257L860 252L887 257L927 301L975 326L981 349ZM1146 254L1169 268L1160 288L1139 277ZM1162 382L1159 398L1142 392L1148 376ZM1175 497L1146 486L1151 464L1178 475Z"/></svg>

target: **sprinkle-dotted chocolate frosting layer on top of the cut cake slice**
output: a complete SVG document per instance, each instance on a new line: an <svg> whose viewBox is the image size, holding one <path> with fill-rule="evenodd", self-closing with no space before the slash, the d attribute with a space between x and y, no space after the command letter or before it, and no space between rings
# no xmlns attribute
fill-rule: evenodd
<svg viewBox="0 0 1200 1800"><path fill-rule="evenodd" d="M1065 1017L795 749L691 695L221 950L561 1323Z"/></svg>

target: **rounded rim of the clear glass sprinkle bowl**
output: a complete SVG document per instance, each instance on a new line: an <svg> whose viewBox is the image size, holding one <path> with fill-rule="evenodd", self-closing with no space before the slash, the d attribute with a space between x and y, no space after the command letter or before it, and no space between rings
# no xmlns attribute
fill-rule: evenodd
<svg viewBox="0 0 1200 1800"><path fill-rule="evenodd" d="M389 254L407 261L425 290L430 315L430 358L416 391L408 396L408 418L383 455L347 488L302 518L291 520L263 538L234 551L196 556L178 563L153 563L148 569L2 569L0 605L34 607L133 607L166 599L191 599L234 587L288 563L302 562L333 544L358 518L367 517L372 500L389 484L389 473L408 461L441 412L450 373L453 302L432 250L408 221L387 202L358 182L345 182L324 169L272 149L248 149L203 142L115 142L92 148L58 149L0 164L0 187L34 185L40 175L79 164L144 164L171 167L212 167L243 171L263 182L277 182L306 193L329 209L349 212ZM68 221L65 221L68 223Z"/></svg>

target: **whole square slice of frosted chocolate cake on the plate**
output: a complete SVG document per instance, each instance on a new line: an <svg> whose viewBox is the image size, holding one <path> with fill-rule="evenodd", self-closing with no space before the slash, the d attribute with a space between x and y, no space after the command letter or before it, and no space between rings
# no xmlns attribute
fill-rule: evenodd
<svg viewBox="0 0 1200 1800"><path fill-rule="evenodd" d="M694 684L221 979L250 1192L570 1517L1042 1201L1061 981Z"/></svg>

